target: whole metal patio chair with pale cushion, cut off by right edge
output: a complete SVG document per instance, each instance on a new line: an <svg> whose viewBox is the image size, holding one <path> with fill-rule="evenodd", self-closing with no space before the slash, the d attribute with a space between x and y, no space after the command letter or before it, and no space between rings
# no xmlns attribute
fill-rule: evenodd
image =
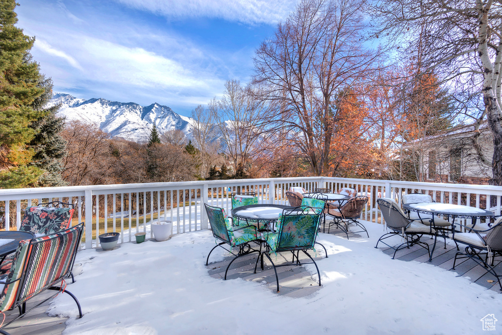
<svg viewBox="0 0 502 335"><path fill-rule="evenodd" d="M502 291L502 284L500 283L500 277L502 277L502 275L496 273L496 266L493 265L494 258L496 256L502 256L502 216L499 216L487 230L476 230L464 225L453 224L453 228L455 228L455 226L468 228L469 233L459 233L455 232L455 229L453 229L451 235L453 241L455 241L455 243L463 243L467 246L463 253L457 252L455 254L452 270L455 270L457 259L469 258L483 266L486 269L486 273L489 272L495 276L497 278L496 282Z"/></svg>

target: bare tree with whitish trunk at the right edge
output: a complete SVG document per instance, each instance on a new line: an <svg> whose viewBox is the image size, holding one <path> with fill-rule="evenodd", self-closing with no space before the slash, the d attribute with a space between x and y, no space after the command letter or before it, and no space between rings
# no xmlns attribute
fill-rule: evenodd
<svg viewBox="0 0 502 335"><path fill-rule="evenodd" d="M378 22L375 37L388 36L405 53L420 50L423 73L435 69L443 82L469 92L465 113L477 128L483 119L493 135L493 156L484 157L475 132L473 147L492 167L493 185L502 185L502 5L487 0L383 0L371 3ZM403 43L405 42L405 43ZM483 108L475 108L482 96ZM470 100L469 100L470 99ZM469 108L469 101L474 106Z"/></svg>

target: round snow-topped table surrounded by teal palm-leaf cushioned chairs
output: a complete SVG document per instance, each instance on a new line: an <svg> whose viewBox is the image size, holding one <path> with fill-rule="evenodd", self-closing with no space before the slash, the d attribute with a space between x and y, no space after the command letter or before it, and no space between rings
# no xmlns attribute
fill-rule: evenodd
<svg viewBox="0 0 502 335"><path fill-rule="evenodd" d="M245 205L233 208L232 217L246 221L248 225L256 226L259 231L264 231L267 230L269 224L273 227L283 210L288 208L295 207L266 203Z"/></svg>

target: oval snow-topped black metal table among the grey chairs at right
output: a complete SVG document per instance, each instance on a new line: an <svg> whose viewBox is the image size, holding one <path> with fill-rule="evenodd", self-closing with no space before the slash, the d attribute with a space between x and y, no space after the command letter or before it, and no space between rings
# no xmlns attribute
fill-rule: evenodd
<svg viewBox="0 0 502 335"><path fill-rule="evenodd" d="M419 203L405 203L403 208L408 211L415 211L417 213L423 213L431 215L431 230L434 228L436 234L434 236L434 245L432 247L431 256L429 261L432 261L432 253L436 247L436 240L438 237L438 232L441 231L444 237L448 237L447 233L443 231L444 228L437 227L434 225L435 216L446 216L448 221L453 223L456 218L470 218L472 219L472 228L476 225L477 218L481 217L493 217L494 214L486 209L456 205L451 203L440 203L440 202L419 202ZM451 217L451 221L450 221ZM453 231L453 227L452 227ZM446 247L446 246L445 246Z"/></svg>

